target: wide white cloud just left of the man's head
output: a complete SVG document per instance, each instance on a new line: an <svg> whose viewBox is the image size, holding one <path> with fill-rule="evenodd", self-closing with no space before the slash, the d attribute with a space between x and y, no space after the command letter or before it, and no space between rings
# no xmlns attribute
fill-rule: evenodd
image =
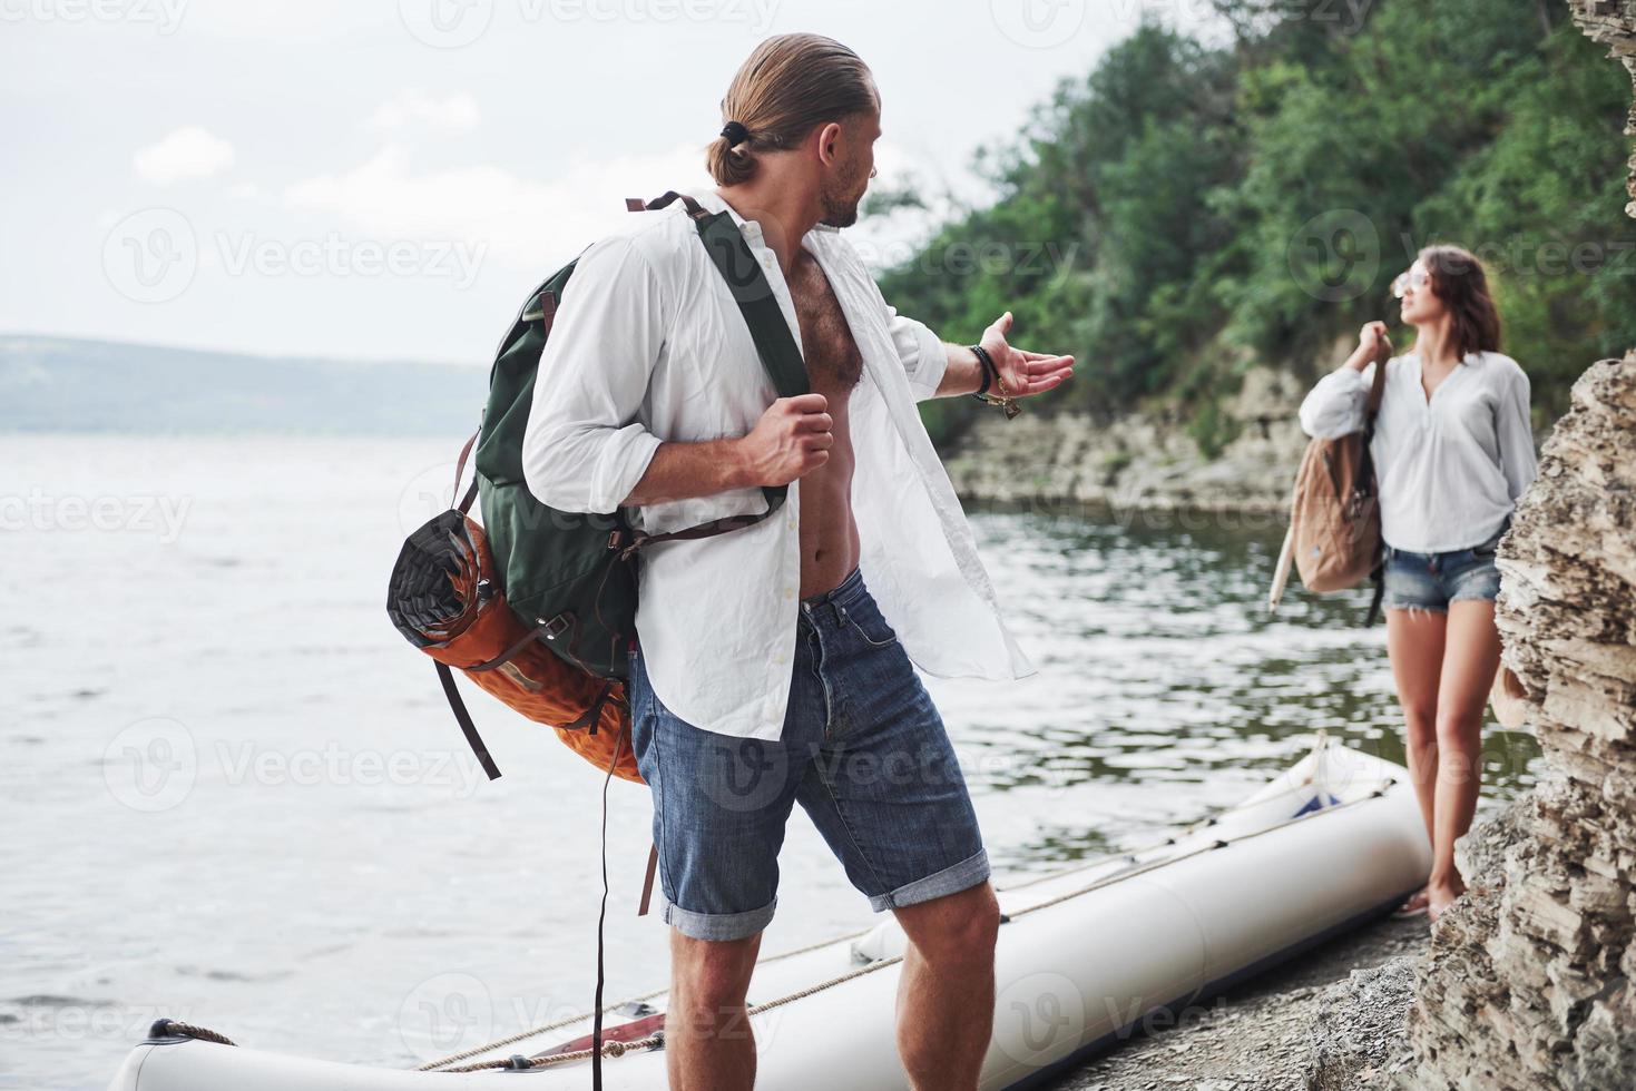
<svg viewBox="0 0 1636 1091"><path fill-rule="evenodd" d="M703 149L690 144L576 162L553 182L520 178L489 164L417 173L407 150L388 144L352 170L298 182L285 190L285 200L332 213L378 242L463 240L538 272L614 231L628 214L627 196L708 185Z"/></svg>

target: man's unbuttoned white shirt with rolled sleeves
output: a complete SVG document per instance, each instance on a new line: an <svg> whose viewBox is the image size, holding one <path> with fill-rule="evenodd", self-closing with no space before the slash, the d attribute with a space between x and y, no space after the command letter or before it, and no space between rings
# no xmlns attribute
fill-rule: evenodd
<svg viewBox="0 0 1636 1091"><path fill-rule="evenodd" d="M756 222L730 211L800 343L789 285ZM916 401L942 379L942 343L888 306L843 234L813 227L818 260L864 358L849 399L859 568L921 671L1036 674L1006 628L972 530ZM731 290L682 204L631 213L579 257L540 357L524 478L564 512L614 512L661 442L746 435L777 399ZM777 739L790 692L800 589L800 479L743 530L641 550L636 635L654 695L705 731ZM646 533L767 507L759 486L628 509Z"/></svg>

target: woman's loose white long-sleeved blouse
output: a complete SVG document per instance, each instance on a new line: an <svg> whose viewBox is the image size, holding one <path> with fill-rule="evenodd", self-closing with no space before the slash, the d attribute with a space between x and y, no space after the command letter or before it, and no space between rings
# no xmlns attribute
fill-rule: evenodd
<svg viewBox="0 0 1636 1091"><path fill-rule="evenodd" d="M1360 432L1374 368L1342 366L1319 379L1301 402L1301 429L1324 440ZM1410 553L1479 545L1535 479L1528 375L1503 353L1474 352L1428 399L1420 355L1392 357L1369 453L1386 545Z"/></svg>

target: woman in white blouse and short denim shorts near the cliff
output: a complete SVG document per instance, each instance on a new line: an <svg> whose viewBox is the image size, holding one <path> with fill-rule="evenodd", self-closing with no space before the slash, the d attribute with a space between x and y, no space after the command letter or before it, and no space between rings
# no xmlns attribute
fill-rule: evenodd
<svg viewBox="0 0 1636 1091"><path fill-rule="evenodd" d="M1477 258L1432 245L1392 283L1407 353L1386 360L1369 453L1386 551L1386 648L1404 708L1432 875L1399 909L1435 921L1466 883L1454 839L1471 828L1482 777L1482 721L1499 669L1494 551L1535 478L1528 375L1500 353L1500 317ZM1346 363L1301 404L1301 427L1337 438L1364 427L1384 322L1363 327Z"/></svg>

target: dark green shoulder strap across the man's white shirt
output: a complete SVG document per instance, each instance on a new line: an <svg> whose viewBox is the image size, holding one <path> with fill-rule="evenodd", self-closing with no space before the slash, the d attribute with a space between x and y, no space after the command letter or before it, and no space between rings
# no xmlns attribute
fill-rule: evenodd
<svg viewBox="0 0 1636 1091"><path fill-rule="evenodd" d="M761 366L772 378L772 386L779 391L779 397L795 397L797 394L808 393L811 386L807 378L807 361L802 360L802 350L790 335L790 327L784 321L779 299L772 294L772 285L767 283L761 265L749 252L749 244L744 242L744 234L733 222L733 214L728 211L712 213L694 198L676 190L651 201L643 201L640 196L625 198L625 209L631 213L658 211L674 201L681 201L682 208L687 209L687 218L694 221L694 227L699 231L699 240L731 290L733 299L744 316L744 324L749 327L751 340L756 342ZM728 515L663 535L635 532L622 556L628 556L633 550L653 545L654 541L710 538L759 523L784 504L789 486L762 486L761 491L767 497L767 510L759 515Z"/></svg>

